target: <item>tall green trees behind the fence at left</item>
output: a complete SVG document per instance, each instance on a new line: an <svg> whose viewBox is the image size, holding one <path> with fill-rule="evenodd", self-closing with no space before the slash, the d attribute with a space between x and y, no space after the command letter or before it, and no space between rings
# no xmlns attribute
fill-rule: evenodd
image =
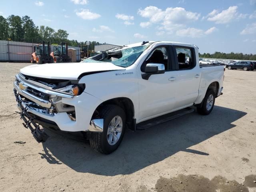
<svg viewBox="0 0 256 192"><path fill-rule="evenodd" d="M0 16L0 40L42 43L42 41L50 42L51 44L60 44L68 42L70 46L84 45L85 42L77 40L68 40L68 32L59 29L55 31L49 26L36 26L29 16L10 15L8 18ZM99 42L90 42L89 50L94 50L94 45Z"/></svg>

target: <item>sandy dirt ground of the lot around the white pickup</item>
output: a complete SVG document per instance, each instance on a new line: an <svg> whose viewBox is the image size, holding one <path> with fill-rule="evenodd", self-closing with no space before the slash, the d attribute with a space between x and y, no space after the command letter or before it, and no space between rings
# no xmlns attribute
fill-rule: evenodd
<svg viewBox="0 0 256 192"><path fill-rule="evenodd" d="M210 115L127 130L118 150L103 155L49 131L38 144L22 126L12 82L27 65L0 63L1 192L256 192L255 70L226 70Z"/></svg>

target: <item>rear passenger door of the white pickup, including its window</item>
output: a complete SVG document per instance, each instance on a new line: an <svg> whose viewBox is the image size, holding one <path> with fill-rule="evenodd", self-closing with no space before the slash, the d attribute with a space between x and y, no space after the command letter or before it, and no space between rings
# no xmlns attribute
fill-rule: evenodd
<svg viewBox="0 0 256 192"><path fill-rule="evenodd" d="M196 50L189 46L172 46L175 70L176 103L174 108L192 105L198 97L200 68L196 61ZM198 54L198 53L197 53Z"/></svg>

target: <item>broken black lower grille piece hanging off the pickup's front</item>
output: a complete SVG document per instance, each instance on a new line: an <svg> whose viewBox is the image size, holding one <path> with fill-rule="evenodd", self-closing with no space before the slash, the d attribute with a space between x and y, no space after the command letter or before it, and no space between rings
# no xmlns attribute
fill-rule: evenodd
<svg viewBox="0 0 256 192"><path fill-rule="evenodd" d="M22 99L20 98L20 94L16 91L16 89L13 89L13 91L16 97L16 101L18 102L18 108L20 108L21 110L21 112L19 113L20 118L24 120L24 123L22 123L23 126L31 130L32 135L38 143L45 142L49 136L44 132L44 130L40 130L40 127L34 122L34 118L30 116L30 114L28 114L28 107L26 105L26 107L22 105Z"/></svg>

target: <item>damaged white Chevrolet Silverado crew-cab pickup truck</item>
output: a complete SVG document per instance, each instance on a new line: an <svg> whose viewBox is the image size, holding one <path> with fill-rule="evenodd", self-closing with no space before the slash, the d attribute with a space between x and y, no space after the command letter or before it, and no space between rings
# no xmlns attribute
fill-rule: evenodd
<svg viewBox="0 0 256 192"><path fill-rule="evenodd" d="M20 70L14 94L24 126L38 142L43 128L82 132L109 154L126 128L196 106L210 114L222 92L224 66L200 66L198 47L177 42L119 46L80 63L31 65Z"/></svg>

